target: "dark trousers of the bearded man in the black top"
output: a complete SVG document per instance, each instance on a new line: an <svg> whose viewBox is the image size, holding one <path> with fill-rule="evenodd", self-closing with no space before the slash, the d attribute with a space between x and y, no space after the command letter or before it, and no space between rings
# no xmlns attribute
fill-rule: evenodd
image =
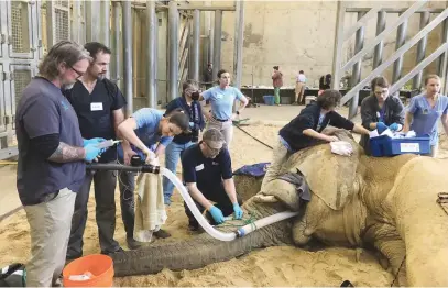
<svg viewBox="0 0 448 288"><path fill-rule="evenodd" d="M95 186L96 220L101 252L113 253L120 248L120 245L113 239L116 232L116 171L86 173L84 184L76 195L67 258L83 256L83 235L87 222L87 203L91 181L94 181Z"/></svg>

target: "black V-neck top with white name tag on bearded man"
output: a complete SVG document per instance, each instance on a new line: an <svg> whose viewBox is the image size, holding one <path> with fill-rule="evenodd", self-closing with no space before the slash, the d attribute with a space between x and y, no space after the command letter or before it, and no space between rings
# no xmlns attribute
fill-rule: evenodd
<svg viewBox="0 0 448 288"><path fill-rule="evenodd" d="M83 82L77 81L69 90L64 91L78 115L79 129L84 139L116 139L113 110L125 106L125 100L117 85L108 79L98 80L91 93ZM99 162L117 159L117 146L108 148Z"/></svg>

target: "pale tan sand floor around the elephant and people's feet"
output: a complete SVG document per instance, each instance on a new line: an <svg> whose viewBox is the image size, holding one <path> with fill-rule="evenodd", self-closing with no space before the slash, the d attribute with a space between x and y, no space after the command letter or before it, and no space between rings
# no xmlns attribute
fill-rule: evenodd
<svg viewBox="0 0 448 288"><path fill-rule="evenodd" d="M273 145L278 126L250 125L244 128L254 136ZM448 139L441 139L440 157L448 156ZM269 162L270 148L234 131L231 145L232 167ZM11 170L12 171L12 170ZM2 178L2 186L15 186L14 177ZM92 193L90 193L92 196ZM119 193L117 190L117 200ZM118 201L117 201L118 203ZM183 201L177 192L167 209L164 226L172 237L179 241L195 236L187 230ZM125 237L120 208L117 206L116 239L123 248ZM163 240L156 240L163 241ZM85 232L85 254L99 253L98 232L95 222L95 199L90 197L89 218ZM29 224L23 210L0 222L0 267L12 262L26 262L30 256ZM225 263L208 265L201 269L171 272L156 275L116 278L117 286L339 286L349 279L356 286L390 286L393 275L384 270L373 254L363 250L331 247L307 252L293 246L270 247L253 251L249 255Z"/></svg>

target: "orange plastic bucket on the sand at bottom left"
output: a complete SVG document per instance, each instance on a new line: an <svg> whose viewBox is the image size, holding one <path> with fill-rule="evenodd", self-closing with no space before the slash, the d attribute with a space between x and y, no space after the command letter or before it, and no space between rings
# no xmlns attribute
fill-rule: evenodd
<svg viewBox="0 0 448 288"><path fill-rule="evenodd" d="M63 270L64 287L112 287L113 261L102 254L92 254L70 262ZM76 280L88 275L88 279ZM70 279L70 276L72 279Z"/></svg>

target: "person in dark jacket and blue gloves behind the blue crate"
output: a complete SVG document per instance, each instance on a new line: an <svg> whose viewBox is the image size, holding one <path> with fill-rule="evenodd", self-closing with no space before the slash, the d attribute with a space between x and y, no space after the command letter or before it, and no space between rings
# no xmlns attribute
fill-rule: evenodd
<svg viewBox="0 0 448 288"><path fill-rule="evenodd" d="M383 76L376 77L371 82L372 95L361 102L362 125L381 134L387 128L401 131L404 124L404 107L396 96L389 96L389 82ZM370 136L361 135L359 143L367 155L371 155Z"/></svg>

